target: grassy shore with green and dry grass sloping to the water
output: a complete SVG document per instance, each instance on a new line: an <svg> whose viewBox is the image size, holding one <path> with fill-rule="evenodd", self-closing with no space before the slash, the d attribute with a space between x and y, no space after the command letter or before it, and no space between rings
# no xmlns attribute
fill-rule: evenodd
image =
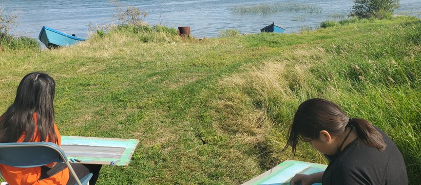
<svg viewBox="0 0 421 185"><path fill-rule="evenodd" d="M385 131L416 184L420 27L398 17L199 41L122 26L73 47L1 51L0 110L26 73L45 71L62 135L140 140L99 184L239 184L285 159L326 163L305 144L279 155L297 106L321 97Z"/></svg>

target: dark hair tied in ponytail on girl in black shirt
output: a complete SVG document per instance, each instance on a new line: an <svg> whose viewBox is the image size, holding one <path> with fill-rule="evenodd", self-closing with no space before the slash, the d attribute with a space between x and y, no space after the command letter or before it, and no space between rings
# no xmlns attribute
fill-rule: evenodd
<svg viewBox="0 0 421 185"><path fill-rule="evenodd" d="M328 131L333 136L342 135L345 133L348 123L355 127L358 139L363 143L379 151L386 149L383 136L367 120L350 119L335 103L315 98L304 101L298 106L293 123L290 126L289 138L283 151L288 146L291 146L295 155L295 149L300 138L318 138L322 130Z"/></svg>

